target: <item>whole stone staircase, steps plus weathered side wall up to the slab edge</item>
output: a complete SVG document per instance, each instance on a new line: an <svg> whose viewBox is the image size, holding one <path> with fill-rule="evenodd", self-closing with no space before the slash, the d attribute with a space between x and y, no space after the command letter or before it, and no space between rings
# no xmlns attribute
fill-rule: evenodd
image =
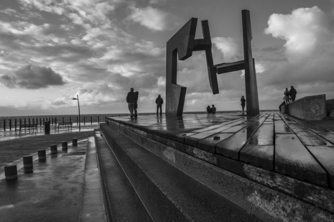
<svg viewBox="0 0 334 222"><path fill-rule="evenodd" d="M230 160L226 170L159 133L113 120L95 129L107 221L334 220L331 189Z"/></svg>

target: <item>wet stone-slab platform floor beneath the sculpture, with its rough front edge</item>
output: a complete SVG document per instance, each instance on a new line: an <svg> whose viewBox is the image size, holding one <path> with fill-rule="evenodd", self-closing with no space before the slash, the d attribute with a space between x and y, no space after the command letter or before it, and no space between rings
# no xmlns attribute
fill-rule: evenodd
<svg viewBox="0 0 334 222"><path fill-rule="evenodd" d="M241 112L120 116L107 122L203 150L214 164L237 161L334 188L334 131L278 111L251 117Z"/></svg>

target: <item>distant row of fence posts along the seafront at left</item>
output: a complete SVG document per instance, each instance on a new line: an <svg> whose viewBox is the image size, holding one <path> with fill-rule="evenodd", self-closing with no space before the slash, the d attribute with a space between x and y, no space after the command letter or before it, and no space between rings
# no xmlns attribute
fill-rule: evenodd
<svg viewBox="0 0 334 222"><path fill-rule="evenodd" d="M100 122L105 122L105 116L62 116L62 117L35 117L35 118L2 118L0 119L0 130L14 130L20 124L35 124L43 126L45 121L50 121L51 125L56 125L58 122L73 122L73 125L98 125Z"/></svg>

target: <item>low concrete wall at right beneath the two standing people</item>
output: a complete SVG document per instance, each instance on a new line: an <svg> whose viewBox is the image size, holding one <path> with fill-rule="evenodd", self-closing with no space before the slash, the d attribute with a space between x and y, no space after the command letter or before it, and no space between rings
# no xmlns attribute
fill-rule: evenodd
<svg viewBox="0 0 334 222"><path fill-rule="evenodd" d="M304 97L281 107L284 114L305 120L322 120L326 118L326 95Z"/></svg>

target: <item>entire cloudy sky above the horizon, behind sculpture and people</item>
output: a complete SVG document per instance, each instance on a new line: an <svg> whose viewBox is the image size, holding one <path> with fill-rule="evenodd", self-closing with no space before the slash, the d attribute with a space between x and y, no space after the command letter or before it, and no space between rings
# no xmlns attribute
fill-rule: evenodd
<svg viewBox="0 0 334 222"><path fill-rule="evenodd" d="M297 98L334 99L333 0L0 0L0 116L138 112L165 100L166 42L191 17L208 20L214 64L243 60L241 10L250 10L260 110ZM210 89L204 51L178 61L184 111L241 110L244 71ZM165 107L163 105L163 111Z"/></svg>

